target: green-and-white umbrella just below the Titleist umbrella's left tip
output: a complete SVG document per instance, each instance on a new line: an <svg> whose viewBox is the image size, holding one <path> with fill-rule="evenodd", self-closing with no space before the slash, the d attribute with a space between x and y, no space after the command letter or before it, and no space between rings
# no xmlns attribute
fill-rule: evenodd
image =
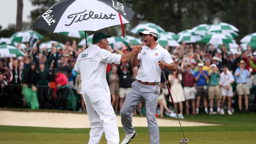
<svg viewBox="0 0 256 144"><path fill-rule="evenodd" d="M29 40L30 40L30 38L32 37L33 34L35 34L37 39L43 39L42 35L40 35L36 31L32 31L32 30L18 31L18 32L14 33L13 35L11 35L10 38L12 39L12 41L29 42Z"/></svg>

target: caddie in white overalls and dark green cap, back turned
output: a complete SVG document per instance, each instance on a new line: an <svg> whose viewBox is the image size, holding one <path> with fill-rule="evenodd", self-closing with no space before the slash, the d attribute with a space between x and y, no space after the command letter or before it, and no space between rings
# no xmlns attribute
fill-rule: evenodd
<svg viewBox="0 0 256 144"><path fill-rule="evenodd" d="M74 70L81 73L83 100L91 123L88 144L99 144L103 132L108 144L119 144L116 115L106 80L107 63L125 63L141 51L138 45L127 54L111 54L106 50L109 37L111 35L95 33L93 44L79 54L74 66Z"/></svg>

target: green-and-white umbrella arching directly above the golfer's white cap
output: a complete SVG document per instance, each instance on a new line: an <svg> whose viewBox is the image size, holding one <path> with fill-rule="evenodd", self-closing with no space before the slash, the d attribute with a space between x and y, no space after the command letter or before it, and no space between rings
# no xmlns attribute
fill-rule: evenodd
<svg viewBox="0 0 256 144"><path fill-rule="evenodd" d="M135 28L133 28L131 30L132 33L138 34L139 31L144 31L145 28L153 28L156 30L156 32L159 34L165 30L163 30L163 28L161 28L160 26L153 24L153 23L143 23L143 24L138 24L137 26L135 26Z"/></svg>

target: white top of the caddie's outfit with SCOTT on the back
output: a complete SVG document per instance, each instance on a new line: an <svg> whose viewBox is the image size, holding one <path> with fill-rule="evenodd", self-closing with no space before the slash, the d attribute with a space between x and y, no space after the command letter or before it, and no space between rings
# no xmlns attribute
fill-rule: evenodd
<svg viewBox="0 0 256 144"><path fill-rule="evenodd" d="M91 81L102 81L102 79L106 80L107 64L120 64L120 61L121 55L111 54L108 50L91 44L78 55L74 70L81 73L82 84Z"/></svg>

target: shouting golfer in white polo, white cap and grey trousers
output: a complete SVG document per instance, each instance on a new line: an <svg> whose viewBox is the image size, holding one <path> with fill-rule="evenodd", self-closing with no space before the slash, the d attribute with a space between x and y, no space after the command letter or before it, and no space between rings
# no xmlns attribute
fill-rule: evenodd
<svg viewBox="0 0 256 144"><path fill-rule="evenodd" d="M125 138L121 144L128 144L131 138L137 134L132 126L132 110L145 98L148 131L150 144L159 144L159 129L156 121L156 105L158 100L158 83L161 79L161 68L171 71L176 70L176 65L167 50L159 45L158 33L152 28L140 31L145 46L139 54L132 57L132 67L140 63L136 81L132 83L131 91L126 95L121 109L121 121L125 132ZM161 61L159 63L159 61Z"/></svg>

